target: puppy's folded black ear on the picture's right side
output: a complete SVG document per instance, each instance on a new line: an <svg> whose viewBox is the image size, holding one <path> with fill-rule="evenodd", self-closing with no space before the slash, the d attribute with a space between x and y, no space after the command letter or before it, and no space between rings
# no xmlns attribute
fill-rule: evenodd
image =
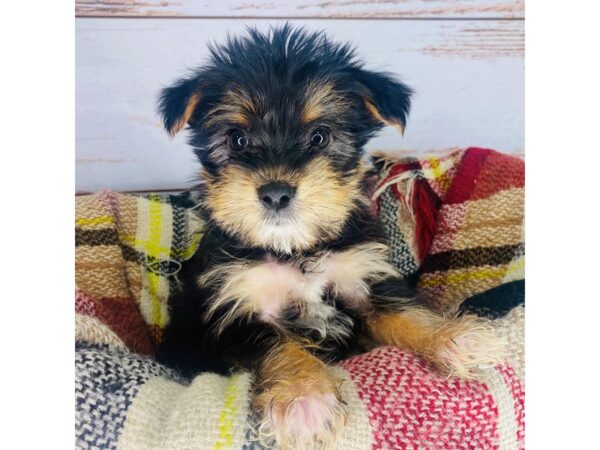
<svg viewBox="0 0 600 450"><path fill-rule="evenodd" d="M413 90L386 73L360 69L357 78L366 88L362 95L373 118L404 134Z"/></svg>

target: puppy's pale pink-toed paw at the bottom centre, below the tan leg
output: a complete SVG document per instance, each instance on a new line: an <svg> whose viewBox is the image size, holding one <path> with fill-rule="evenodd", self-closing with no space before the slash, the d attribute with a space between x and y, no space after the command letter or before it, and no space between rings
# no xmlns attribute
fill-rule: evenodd
<svg viewBox="0 0 600 450"><path fill-rule="evenodd" d="M275 384L258 394L253 406L260 414L261 441L282 449L333 448L347 421L337 390L308 392L300 385Z"/></svg>

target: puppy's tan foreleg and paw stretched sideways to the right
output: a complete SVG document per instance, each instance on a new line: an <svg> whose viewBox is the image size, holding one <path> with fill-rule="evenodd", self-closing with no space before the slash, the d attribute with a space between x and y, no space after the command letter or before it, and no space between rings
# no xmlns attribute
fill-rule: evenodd
<svg viewBox="0 0 600 450"><path fill-rule="evenodd" d="M472 315L447 319L425 308L374 314L371 336L411 350L449 375L474 378L476 371L502 361L505 342L491 322Z"/></svg>

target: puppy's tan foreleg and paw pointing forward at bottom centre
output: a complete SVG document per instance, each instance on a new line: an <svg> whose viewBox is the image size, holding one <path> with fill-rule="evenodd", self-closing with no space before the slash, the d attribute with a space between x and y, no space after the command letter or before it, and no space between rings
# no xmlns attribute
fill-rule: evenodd
<svg viewBox="0 0 600 450"><path fill-rule="evenodd" d="M300 345L274 348L257 374L252 403L261 420L258 434L270 448L329 449L348 418L339 386L327 366Z"/></svg>

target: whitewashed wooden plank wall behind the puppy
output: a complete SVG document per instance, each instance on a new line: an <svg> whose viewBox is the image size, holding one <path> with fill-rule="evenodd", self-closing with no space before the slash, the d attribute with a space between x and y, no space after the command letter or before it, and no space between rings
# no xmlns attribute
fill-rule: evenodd
<svg viewBox="0 0 600 450"><path fill-rule="evenodd" d="M386 129L370 148L524 152L521 1L77 0L76 14L79 192L189 186L197 166L184 134L162 130L158 91L200 65L207 42L282 18L353 42L416 90L404 138Z"/></svg>

